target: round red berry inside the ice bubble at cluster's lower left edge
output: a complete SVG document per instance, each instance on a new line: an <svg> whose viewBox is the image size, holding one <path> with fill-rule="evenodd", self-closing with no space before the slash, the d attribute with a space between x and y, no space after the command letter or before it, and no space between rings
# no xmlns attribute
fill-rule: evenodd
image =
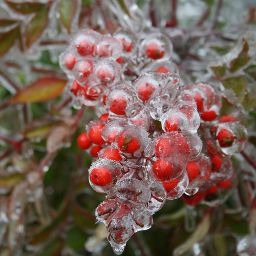
<svg viewBox="0 0 256 256"><path fill-rule="evenodd" d="M112 175L109 168L100 166L92 170L90 179L95 185L106 186L112 182Z"/></svg>

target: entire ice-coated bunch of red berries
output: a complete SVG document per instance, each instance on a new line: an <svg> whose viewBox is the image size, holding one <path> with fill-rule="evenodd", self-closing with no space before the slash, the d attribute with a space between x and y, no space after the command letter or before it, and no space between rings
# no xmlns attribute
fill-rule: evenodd
<svg viewBox="0 0 256 256"><path fill-rule="evenodd" d="M247 135L239 112L220 116L221 92L206 83L181 84L166 35L139 36L83 30L60 56L74 106L96 106L100 116L78 145L97 158L89 181L107 195L96 218L116 253L152 226L166 199L185 193L190 205L220 203L234 183L230 156Z"/></svg>

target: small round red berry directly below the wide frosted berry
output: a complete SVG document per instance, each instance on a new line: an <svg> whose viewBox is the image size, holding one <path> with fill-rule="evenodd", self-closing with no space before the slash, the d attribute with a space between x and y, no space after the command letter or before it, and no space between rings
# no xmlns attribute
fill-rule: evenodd
<svg viewBox="0 0 256 256"><path fill-rule="evenodd" d="M160 181L169 180L173 173L172 164L165 160L157 160L153 164L153 172Z"/></svg>

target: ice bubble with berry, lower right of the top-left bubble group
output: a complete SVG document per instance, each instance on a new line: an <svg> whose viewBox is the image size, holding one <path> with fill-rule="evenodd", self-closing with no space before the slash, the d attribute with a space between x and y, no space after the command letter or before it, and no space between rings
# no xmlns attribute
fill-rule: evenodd
<svg viewBox="0 0 256 256"><path fill-rule="evenodd" d="M97 61L94 68L96 83L113 86L121 78L121 66L112 58Z"/></svg>

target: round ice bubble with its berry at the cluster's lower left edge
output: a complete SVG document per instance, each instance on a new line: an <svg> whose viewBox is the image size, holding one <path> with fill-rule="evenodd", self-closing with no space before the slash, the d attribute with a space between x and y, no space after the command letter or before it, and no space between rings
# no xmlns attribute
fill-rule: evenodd
<svg viewBox="0 0 256 256"><path fill-rule="evenodd" d="M91 187L98 193L109 193L122 175L122 166L110 159L98 159L88 172Z"/></svg>

